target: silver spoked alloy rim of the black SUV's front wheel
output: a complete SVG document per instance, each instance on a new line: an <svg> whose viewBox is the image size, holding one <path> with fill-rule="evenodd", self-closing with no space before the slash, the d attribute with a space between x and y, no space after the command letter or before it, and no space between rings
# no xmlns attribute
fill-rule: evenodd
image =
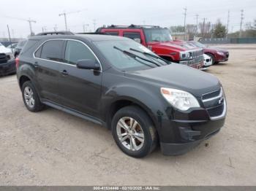
<svg viewBox="0 0 256 191"><path fill-rule="evenodd" d="M137 151L143 147L144 133L140 124L132 117L122 117L116 127L121 144L129 150Z"/></svg>

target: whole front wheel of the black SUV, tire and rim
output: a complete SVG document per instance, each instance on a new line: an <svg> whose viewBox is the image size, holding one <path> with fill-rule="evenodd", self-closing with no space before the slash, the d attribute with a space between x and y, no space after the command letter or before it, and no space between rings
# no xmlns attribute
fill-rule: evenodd
<svg viewBox="0 0 256 191"><path fill-rule="evenodd" d="M131 157L146 157L157 146L157 130L148 114L138 106L118 110L113 117L111 130L118 147Z"/></svg>

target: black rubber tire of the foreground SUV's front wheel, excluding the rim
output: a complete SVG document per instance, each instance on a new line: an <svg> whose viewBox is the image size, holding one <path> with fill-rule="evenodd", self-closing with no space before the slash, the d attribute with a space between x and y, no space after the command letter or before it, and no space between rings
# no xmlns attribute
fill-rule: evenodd
<svg viewBox="0 0 256 191"><path fill-rule="evenodd" d="M121 144L121 141L119 141L118 135L116 132L116 125L118 120L121 119L121 117L132 117L140 124L140 127L143 129L144 144L140 150L131 151L125 148L123 144ZM123 109L120 109L118 112L116 112L111 123L111 130L112 130L113 138L115 139L118 147L121 149L122 152L126 153L131 157L145 157L154 149L154 144L155 144L154 142L156 139L154 125L152 124L148 115L137 106L127 106L127 107L124 107Z"/></svg>

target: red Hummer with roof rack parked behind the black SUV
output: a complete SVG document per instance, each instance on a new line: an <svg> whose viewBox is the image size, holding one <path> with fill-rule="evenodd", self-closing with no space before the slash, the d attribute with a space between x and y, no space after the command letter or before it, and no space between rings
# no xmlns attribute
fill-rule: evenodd
<svg viewBox="0 0 256 191"><path fill-rule="evenodd" d="M196 69L203 66L203 50L183 42L173 41L167 28L112 25L98 28L96 32L134 39L168 61L181 63Z"/></svg>

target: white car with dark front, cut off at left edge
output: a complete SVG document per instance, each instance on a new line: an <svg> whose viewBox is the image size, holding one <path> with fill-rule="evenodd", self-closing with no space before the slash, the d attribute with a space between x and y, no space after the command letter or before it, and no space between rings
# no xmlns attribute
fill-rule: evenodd
<svg viewBox="0 0 256 191"><path fill-rule="evenodd" d="M15 74L15 72L16 67L12 51L0 43L0 76Z"/></svg>

